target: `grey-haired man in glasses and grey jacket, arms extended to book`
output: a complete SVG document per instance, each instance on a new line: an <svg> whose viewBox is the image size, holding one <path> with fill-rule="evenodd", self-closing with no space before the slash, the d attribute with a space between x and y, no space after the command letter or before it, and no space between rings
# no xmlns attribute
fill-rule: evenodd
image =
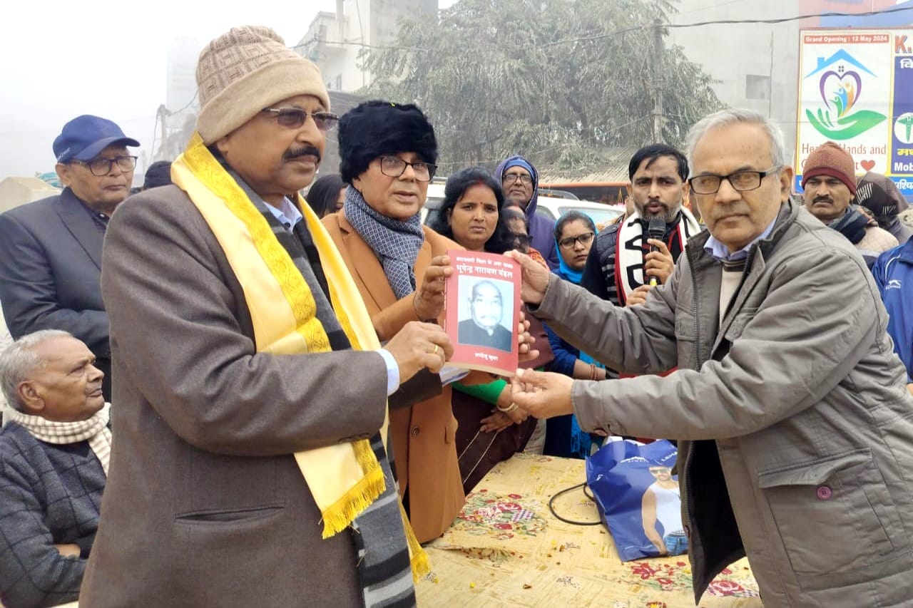
<svg viewBox="0 0 913 608"><path fill-rule="evenodd" d="M532 314L624 382L521 370L515 404L583 430L678 440L695 603L747 555L765 608L913 596L913 395L887 313L843 236L792 201L782 132L722 110L687 137L707 231L621 308L519 252ZM677 365L665 377L650 375Z"/></svg>

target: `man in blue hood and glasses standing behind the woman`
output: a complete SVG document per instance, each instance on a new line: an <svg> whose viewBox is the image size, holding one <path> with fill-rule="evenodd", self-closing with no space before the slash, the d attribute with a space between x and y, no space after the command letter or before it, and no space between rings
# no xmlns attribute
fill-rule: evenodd
<svg viewBox="0 0 913 608"><path fill-rule="evenodd" d="M530 221L530 246L540 252L551 269L558 267L558 248L552 233L555 221L536 213L539 173L532 163L516 155L498 163L495 177L504 190L505 206L516 205Z"/></svg>

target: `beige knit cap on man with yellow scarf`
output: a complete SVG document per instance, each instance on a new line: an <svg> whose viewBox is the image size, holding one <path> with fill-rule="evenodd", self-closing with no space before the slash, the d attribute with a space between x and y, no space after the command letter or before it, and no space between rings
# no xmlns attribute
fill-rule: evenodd
<svg viewBox="0 0 913 608"><path fill-rule="evenodd" d="M196 131L206 145L290 97L313 95L330 110L320 68L263 26L232 27L210 42L200 52L196 87L201 107Z"/></svg>

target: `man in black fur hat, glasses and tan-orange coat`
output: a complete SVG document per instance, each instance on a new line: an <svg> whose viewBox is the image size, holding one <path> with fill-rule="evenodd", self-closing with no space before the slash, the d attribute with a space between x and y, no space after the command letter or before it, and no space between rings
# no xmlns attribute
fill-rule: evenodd
<svg viewBox="0 0 913 608"><path fill-rule="evenodd" d="M342 211L323 223L362 294L374 330L385 341L409 321L436 322L450 272L445 253L459 246L424 227L419 217L436 170L431 123L415 105L367 101L342 116L338 139L340 173L348 187ZM482 372L470 376L490 380ZM358 370L352 370L353 381L357 378ZM451 388L442 387L436 376L430 380L436 381L432 393L407 398L404 404L394 404L393 397L390 402L394 468L421 542L440 536L465 502ZM410 396L415 397L406 394Z"/></svg>

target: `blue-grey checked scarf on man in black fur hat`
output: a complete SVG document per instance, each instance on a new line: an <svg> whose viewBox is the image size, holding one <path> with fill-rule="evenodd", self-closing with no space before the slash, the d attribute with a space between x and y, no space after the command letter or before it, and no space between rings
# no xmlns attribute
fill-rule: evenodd
<svg viewBox="0 0 913 608"><path fill-rule="evenodd" d="M345 190L342 212L381 260L383 274L396 299L404 299L415 291L415 259L425 243L421 216L415 214L401 222L381 215L351 185Z"/></svg>

